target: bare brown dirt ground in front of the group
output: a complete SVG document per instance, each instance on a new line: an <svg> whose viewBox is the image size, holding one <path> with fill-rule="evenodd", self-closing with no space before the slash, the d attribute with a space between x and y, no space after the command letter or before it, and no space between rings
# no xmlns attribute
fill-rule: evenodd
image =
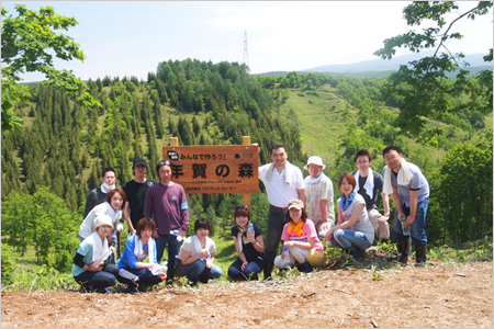
<svg viewBox="0 0 494 329"><path fill-rule="evenodd" d="M429 264L141 295L2 292L1 327L492 328L493 263Z"/></svg>

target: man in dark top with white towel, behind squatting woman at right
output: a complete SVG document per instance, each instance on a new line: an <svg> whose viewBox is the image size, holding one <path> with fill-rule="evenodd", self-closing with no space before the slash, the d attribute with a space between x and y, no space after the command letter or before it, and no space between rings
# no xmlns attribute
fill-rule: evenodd
<svg viewBox="0 0 494 329"><path fill-rule="evenodd" d="M372 224L375 235L382 242L388 242L390 239L390 224L388 224L388 219L390 219L390 196L382 192L384 179L379 172L370 168L371 159L372 157L368 150L361 149L357 151L353 157L353 162L358 170L351 174L355 175L355 180L357 181L355 190L366 201L367 214L369 215L369 220ZM382 197L384 216L379 213L377 205L379 193L381 193Z"/></svg>

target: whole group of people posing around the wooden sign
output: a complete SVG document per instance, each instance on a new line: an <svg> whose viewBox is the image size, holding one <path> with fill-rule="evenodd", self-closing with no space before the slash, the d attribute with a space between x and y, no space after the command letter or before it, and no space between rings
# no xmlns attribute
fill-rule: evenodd
<svg viewBox="0 0 494 329"><path fill-rule="evenodd" d="M263 271L265 280L269 280L274 265L311 272L324 261L324 239L330 247L346 250L352 257L350 262L360 260L374 235L382 241L390 239L390 194L395 204L397 260L408 260L409 235L416 248L416 265L425 264L429 186L420 169L407 162L398 147L383 150L383 175L370 168L369 151L355 155L358 170L344 172L338 180L341 195L337 200L337 223L333 182L323 173L326 166L322 158L308 158L304 169L310 175L303 179L302 171L288 161L283 145L274 144L270 152L272 162L258 169L270 204L267 243L261 229L251 222L250 209L236 207L232 238L238 257L228 268L231 279L258 280ZM72 275L81 290L104 292L119 281L126 284L127 292L137 293L176 275L187 275L192 285L223 275L214 263L216 246L209 237L207 219L195 220L194 235L186 238L189 207L183 188L171 181L171 166L169 161L156 164L156 182L145 177L146 160L137 158L134 180L122 189L115 188L115 170L103 170L101 186L88 195L79 230L81 243L74 258ZM383 215L378 207L379 195ZM115 241L123 229L122 220L127 223L130 235L116 260ZM282 252L278 254L281 240ZM165 264L160 262L167 245Z"/></svg>

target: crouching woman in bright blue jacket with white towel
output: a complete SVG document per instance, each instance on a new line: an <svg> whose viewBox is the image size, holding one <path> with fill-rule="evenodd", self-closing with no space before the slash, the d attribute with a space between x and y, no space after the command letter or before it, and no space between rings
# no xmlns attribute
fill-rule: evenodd
<svg viewBox="0 0 494 329"><path fill-rule="evenodd" d="M135 279L125 279L127 293L145 292L148 286L158 284L167 277L165 273L153 274L151 272L153 268L159 265L156 257L156 241L151 237L155 229L155 220L142 218L137 223L136 234L127 237L117 265L138 277L137 282ZM146 258L147 262L144 262Z"/></svg>

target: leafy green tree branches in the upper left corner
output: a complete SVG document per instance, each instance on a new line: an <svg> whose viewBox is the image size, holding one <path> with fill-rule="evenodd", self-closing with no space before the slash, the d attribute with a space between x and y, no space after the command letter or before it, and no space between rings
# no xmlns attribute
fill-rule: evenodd
<svg viewBox="0 0 494 329"><path fill-rule="evenodd" d="M53 67L52 53L64 60L86 58L70 36L54 32L76 26L76 19L58 15L49 5L41 7L38 12L27 10L24 4L14 8L18 16L8 15L2 7L2 133L21 126L22 120L13 113L12 105L31 97L29 88L19 84L23 72L44 73L47 84L64 88L85 109L100 105L82 80L71 71Z"/></svg>

